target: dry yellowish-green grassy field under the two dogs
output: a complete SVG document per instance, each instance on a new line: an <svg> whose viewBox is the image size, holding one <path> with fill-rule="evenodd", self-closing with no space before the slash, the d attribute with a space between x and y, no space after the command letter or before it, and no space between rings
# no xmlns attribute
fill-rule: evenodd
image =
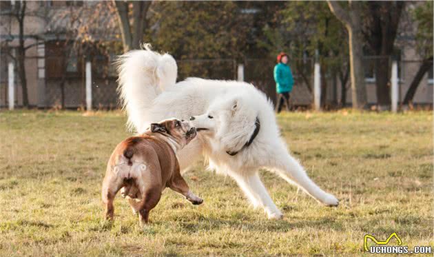
<svg viewBox="0 0 434 257"><path fill-rule="evenodd" d="M141 228L120 196L114 223L103 220L105 165L129 135L120 112L0 112L0 256L370 256L364 234L393 232L403 245L434 245L432 112L299 112L278 121L339 207L261 172L285 215L267 220L231 178L197 163L184 177L205 203L167 189Z"/></svg>

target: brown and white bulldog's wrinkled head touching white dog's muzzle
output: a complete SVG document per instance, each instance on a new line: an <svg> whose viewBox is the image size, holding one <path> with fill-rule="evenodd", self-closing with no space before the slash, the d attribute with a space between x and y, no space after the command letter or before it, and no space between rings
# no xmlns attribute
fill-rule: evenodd
<svg viewBox="0 0 434 257"><path fill-rule="evenodd" d="M193 127L189 121L180 121L178 119L167 119L159 123L152 123L151 132L161 133L172 138L180 147L184 147L196 136L196 127Z"/></svg>

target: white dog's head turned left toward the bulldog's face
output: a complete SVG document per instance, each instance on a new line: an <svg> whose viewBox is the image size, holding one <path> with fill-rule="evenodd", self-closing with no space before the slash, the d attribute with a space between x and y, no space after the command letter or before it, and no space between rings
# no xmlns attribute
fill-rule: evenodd
<svg viewBox="0 0 434 257"><path fill-rule="evenodd" d="M254 133L258 116L248 99L233 96L211 103L205 114L190 117L199 134L212 141L213 148L237 152ZM216 149L217 150L217 149Z"/></svg>

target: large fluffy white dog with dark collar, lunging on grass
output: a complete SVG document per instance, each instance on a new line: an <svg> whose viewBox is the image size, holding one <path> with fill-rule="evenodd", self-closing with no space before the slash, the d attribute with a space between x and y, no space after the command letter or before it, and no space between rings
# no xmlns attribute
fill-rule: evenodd
<svg viewBox="0 0 434 257"><path fill-rule="evenodd" d="M251 204L263 207L269 218L282 218L282 213L260 181L262 167L295 183L320 203L338 205L338 199L313 183L289 154L271 103L253 85L198 78L176 83L173 57L153 52L147 45L145 50L121 56L118 72L121 100L137 132L169 117L192 119L203 130L178 152L181 170L203 154L211 169L234 178Z"/></svg>

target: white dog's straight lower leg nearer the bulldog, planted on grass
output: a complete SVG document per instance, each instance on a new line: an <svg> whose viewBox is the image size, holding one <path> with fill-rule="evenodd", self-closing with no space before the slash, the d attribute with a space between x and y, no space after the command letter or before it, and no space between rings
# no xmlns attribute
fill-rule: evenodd
<svg viewBox="0 0 434 257"><path fill-rule="evenodd" d="M276 207L269 196L267 189L258 176L258 173L249 176L241 174L230 174L241 187L249 201L254 207L263 207L267 212L268 218L282 218L282 212Z"/></svg>

